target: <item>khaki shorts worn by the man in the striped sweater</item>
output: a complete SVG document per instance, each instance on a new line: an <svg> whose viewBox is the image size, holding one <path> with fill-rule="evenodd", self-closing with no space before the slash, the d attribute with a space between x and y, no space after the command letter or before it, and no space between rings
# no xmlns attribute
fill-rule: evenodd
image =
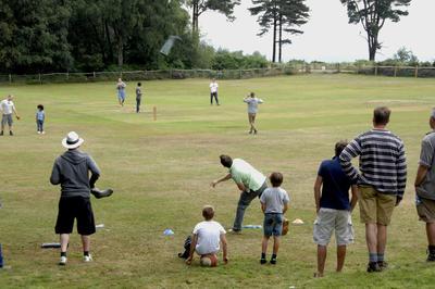
<svg viewBox="0 0 435 289"><path fill-rule="evenodd" d="M361 223L388 226L396 205L396 194L382 193L369 186L358 189Z"/></svg>

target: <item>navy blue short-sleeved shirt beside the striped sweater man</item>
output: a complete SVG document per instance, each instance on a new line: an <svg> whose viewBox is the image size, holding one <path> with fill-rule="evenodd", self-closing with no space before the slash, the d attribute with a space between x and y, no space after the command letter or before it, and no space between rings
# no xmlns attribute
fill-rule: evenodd
<svg viewBox="0 0 435 289"><path fill-rule="evenodd" d="M335 210L350 210L349 188L352 185L345 174L338 158L325 160L319 167L322 177L322 197L320 206Z"/></svg>

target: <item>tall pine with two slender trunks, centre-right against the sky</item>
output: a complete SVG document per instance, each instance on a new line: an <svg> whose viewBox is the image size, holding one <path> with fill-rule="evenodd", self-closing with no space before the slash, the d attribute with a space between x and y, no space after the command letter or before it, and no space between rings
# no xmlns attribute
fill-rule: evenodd
<svg viewBox="0 0 435 289"><path fill-rule="evenodd" d="M252 15L259 15L257 22L261 26L258 34L263 36L272 29L272 62L276 61L276 43L278 43L278 61L282 61L283 45L291 43L289 38L283 38L283 32L289 34L302 34L302 30L294 28L308 21L309 8L304 0L252 0L249 9Z"/></svg>

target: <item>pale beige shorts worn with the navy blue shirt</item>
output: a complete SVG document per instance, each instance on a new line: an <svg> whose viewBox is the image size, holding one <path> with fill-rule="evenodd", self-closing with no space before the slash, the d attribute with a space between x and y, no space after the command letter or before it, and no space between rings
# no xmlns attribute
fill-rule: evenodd
<svg viewBox="0 0 435 289"><path fill-rule="evenodd" d="M327 246L334 230L337 246L346 246L353 242L353 226L350 212L321 208L314 222L314 242L320 246Z"/></svg>

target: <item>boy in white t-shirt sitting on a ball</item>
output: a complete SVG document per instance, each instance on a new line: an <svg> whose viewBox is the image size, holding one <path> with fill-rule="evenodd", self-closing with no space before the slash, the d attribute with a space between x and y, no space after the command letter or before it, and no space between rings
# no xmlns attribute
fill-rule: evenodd
<svg viewBox="0 0 435 289"><path fill-rule="evenodd" d="M227 243L225 237L225 229L221 224L213 221L214 209L211 205L206 205L202 209L202 216L204 221L198 223L192 231L191 246L189 257L186 260L186 264L190 265L194 260L194 252L197 252L201 259L210 257L216 260L216 254L221 249L222 243L223 262L228 263L227 256Z"/></svg>

